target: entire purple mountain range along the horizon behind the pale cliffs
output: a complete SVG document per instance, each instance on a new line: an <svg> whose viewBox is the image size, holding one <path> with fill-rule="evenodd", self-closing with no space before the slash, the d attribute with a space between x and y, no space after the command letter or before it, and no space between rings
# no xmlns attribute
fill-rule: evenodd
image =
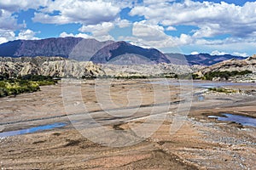
<svg viewBox="0 0 256 170"><path fill-rule="evenodd" d="M82 37L58 37L41 40L15 40L0 44L2 57L60 56L96 64L214 65L227 59L244 59L230 54L163 54L155 48L141 48L129 42L99 42Z"/></svg>

